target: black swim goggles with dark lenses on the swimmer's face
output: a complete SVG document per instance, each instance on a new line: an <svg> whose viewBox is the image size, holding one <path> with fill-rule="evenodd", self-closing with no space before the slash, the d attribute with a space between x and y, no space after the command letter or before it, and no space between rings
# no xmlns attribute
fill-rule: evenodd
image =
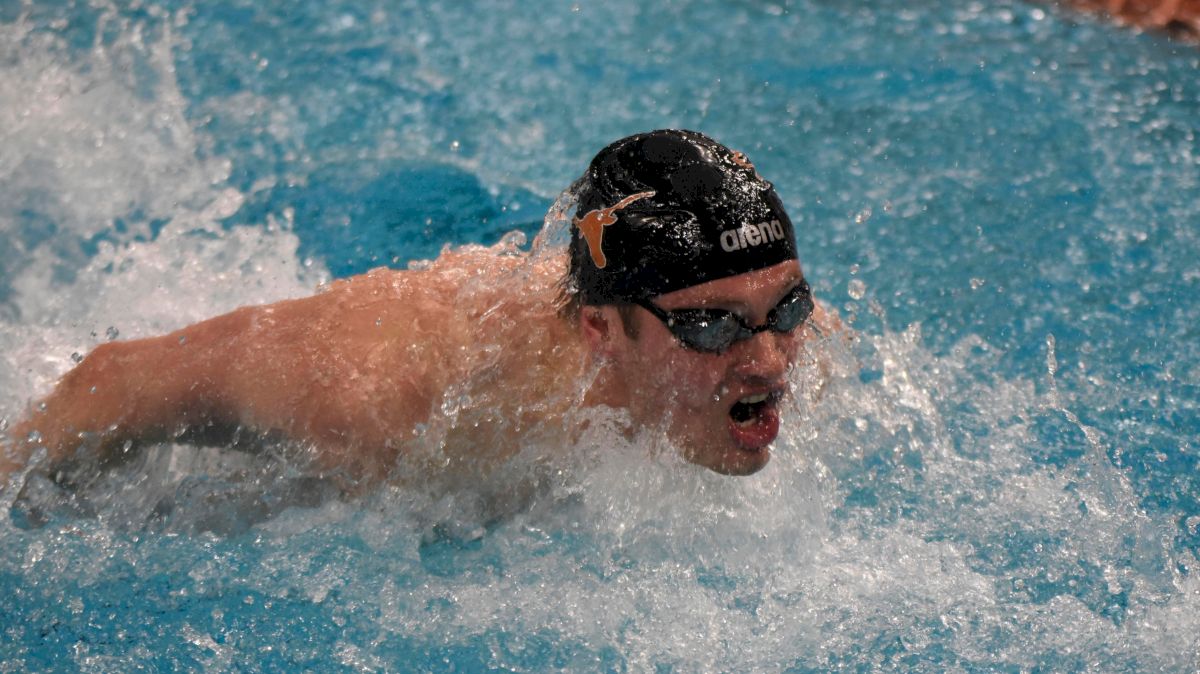
<svg viewBox="0 0 1200 674"><path fill-rule="evenodd" d="M666 311L649 300L635 300L634 303L661 320L684 347L707 354L724 353L733 344L766 330L791 332L812 315L814 308L812 291L804 279L767 313L767 321L762 325L750 325L728 309Z"/></svg>

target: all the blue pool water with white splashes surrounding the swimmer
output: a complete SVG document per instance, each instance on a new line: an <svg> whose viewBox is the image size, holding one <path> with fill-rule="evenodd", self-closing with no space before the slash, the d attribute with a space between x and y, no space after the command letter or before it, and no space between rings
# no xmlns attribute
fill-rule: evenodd
<svg viewBox="0 0 1200 674"><path fill-rule="evenodd" d="M4 4L0 419L110 335L532 236L666 126L859 338L744 480L598 437L499 518L173 446L10 492L0 670L1195 670L1198 74L1004 1Z"/></svg>

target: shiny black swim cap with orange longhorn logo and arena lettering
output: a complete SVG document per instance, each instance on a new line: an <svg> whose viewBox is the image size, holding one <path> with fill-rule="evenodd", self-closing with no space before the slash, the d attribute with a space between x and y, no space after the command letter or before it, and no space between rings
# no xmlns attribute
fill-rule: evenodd
<svg viewBox="0 0 1200 674"><path fill-rule="evenodd" d="M622 138L578 182L583 305L649 299L796 259L792 221L742 152L695 131Z"/></svg>

